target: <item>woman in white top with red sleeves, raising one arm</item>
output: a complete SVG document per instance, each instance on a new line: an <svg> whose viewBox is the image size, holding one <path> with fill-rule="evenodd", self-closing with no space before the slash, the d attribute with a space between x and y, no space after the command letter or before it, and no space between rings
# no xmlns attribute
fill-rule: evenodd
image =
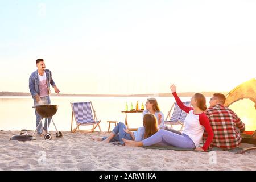
<svg viewBox="0 0 256 182"><path fill-rule="evenodd" d="M195 149L196 151L206 151L208 149L213 139L213 131L212 127L210 127L207 115L203 112L207 109L204 95L200 93L194 94L191 98L192 107L187 107L177 96L176 86L174 84L171 84L171 91L180 109L188 113L184 121L185 126L181 135L167 130L159 130L151 137L143 139L140 142L123 139L126 146L151 146L156 143L164 142L174 147ZM207 131L208 137L204 146L199 147L204 130Z"/></svg>

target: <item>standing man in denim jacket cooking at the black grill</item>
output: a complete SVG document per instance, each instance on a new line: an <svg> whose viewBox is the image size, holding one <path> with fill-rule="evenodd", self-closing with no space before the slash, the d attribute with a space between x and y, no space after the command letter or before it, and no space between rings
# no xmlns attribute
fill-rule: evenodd
<svg viewBox="0 0 256 182"><path fill-rule="evenodd" d="M55 85L55 82L52 79L52 73L49 69L46 69L46 64L44 64L43 59L36 60L36 67L38 70L33 72L30 75L29 79L29 88L32 98L34 99L34 104L36 105L46 105L51 104L49 95L51 94L50 85L53 86L55 93L59 93L60 90ZM39 125L42 117L36 112L36 127ZM51 122L51 119L48 119L48 125ZM49 127L49 126L48 126ZM47 122L44 122L44 131L47 130ZM42 126L39 126L37 129L38 135L43 136Z"/></svg>

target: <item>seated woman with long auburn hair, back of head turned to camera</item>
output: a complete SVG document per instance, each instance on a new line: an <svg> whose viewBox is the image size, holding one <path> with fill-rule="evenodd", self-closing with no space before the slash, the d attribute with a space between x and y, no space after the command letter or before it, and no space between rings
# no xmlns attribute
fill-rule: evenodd
<svg viewBox="0 0 256 182"><path fill-rule="evenodd" d="M159 118L161 118L159 114ZM117 126L114 127L112 132L108 137L95 137L91 138L93 140L101 140L106 143L109 142L122 142L122 139L141 141L154 135L159 129L157 120L154 114L145 114L143 117L143 127L139 127L138 131L134 133L129 131L124 123L119 122Z"/></svg>

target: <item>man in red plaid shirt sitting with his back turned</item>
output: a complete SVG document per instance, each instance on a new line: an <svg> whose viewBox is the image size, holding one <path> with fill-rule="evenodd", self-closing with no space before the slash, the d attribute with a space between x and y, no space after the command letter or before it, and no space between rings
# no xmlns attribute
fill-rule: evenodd
<svg viewBox="0 0 256 182"><path fill-rule="evenodd" d="M241 134L245 131L245 124L228 107L224 107L226 97L221 93L214 93L210 98L210 107L205 110L209 118L210 126L214 137L210 147L219 147L225 149L236 148L240 144ZM207 134L204 133L204 138Z"/></svg>

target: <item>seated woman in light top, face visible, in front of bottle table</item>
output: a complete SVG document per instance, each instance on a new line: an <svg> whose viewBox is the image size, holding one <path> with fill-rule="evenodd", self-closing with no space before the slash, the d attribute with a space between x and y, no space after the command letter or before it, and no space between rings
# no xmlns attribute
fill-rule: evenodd
<svg viewBox="0 0 256 182"><path fill-rule="evenodd" d="M164 124L164 114L159 109L158 101L153 97L148 98L145 106L146 106L146 109L142 113L143 117L147 113L154 114L156 119L158 120L159 129L165 129L166 125ZM161 119L158 118L159 114L161 115Z"/></svg>

